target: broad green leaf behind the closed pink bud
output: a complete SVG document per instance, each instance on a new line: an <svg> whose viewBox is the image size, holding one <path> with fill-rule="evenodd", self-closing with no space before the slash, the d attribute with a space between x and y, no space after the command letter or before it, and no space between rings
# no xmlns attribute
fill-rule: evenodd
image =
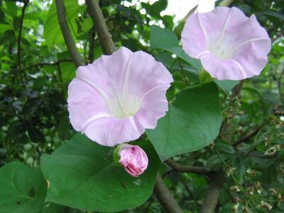
<svg viewBox="0 0 284 213"><path fill-rule="evenodd" d="M76 209L118 212L146 202L153 192L160 160L148 142L139 142L149 165L139 178L110 163L109 147L75 135L52 155L43 155L41 169L50 183L47 201Z"/></svg>

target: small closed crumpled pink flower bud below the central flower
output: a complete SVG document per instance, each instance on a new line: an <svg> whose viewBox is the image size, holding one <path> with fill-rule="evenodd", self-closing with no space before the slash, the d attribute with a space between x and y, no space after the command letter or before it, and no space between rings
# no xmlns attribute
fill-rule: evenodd
<svg viewBox="0 0 284 213"><path fill-rule="evenodd" d="M119 149L119 163L133 177L141 175L148 166L146 153L139 146L122 144Z"/></svg>

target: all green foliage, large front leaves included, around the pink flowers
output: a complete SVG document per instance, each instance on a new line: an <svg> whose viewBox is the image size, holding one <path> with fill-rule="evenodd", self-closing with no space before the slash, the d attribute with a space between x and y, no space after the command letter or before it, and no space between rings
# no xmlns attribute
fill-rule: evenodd
<svg viewBox="0 0 284 213"><path fill-rule="evenodd" d="M86 6L64 2L77 49L86 63L92 62L102 48ZM235 0L231 5L247 16L254 13L273 40L268 65L244 82L238 98L231 97L238 81L211 82L200 61L182 49L183 21L161 16L167 1L100 4L116 46L150 53L174 78L168 113L137 142L148 153L150 167L140 178L131 178L112 163L111 148L75 135L66 98L76 67L62 38L55 1L28 3L19 49L23 2L0 1L0 212L163 212L151 195L158 155L162 160L173 156L180 165L224 170L216 212L232 212L236 198L237 212L283 212L284 1ZM219 134L221 119L231 131ZM199 212L211 176L178 173L165 163L159 171L182 210Z"/></svg>

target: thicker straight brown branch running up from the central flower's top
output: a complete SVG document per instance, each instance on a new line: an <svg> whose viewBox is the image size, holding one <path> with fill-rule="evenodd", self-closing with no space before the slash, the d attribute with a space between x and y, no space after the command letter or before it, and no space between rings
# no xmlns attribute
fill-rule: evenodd
<svg viewBox="0 0 284 213"><path fill-rule="evenodd" d="M104 21L104 16L102 15L99 3L97 0L86 0L86 4L88 6L89 14L94 21L94 27L96 28L97 35L99 36L99 42L102 45L102 50L104 51L104 54L111 55L116 50L116 47L107 28L107 24Z"/></svg>

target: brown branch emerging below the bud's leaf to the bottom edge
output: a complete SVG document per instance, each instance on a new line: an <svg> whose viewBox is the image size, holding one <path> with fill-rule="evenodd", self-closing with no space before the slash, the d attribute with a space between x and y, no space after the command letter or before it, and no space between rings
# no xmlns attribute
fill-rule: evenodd
<svg viewBox="0 0 284 213"><path fill-rule="evenodd" d="M157 197L158 201L165 209L165 212L182 213L180 205L176 202L172 195L170 195L170 191L168 190L168 187L165 186L165 183L159 173L155 180L154 192L155 197Z"/></svg>

